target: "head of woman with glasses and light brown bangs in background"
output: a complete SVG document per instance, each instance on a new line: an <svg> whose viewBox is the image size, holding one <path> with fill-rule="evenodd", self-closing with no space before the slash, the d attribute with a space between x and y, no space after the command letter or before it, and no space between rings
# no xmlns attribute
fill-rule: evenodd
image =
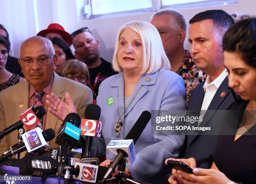
<svg viewBox="0 0 256 184"><path fill-rule="evenodd" d="M61 76L76 82L80 82L84 85L87 85L87 82L90 81L89 71L86 64L76 59L67 61L63 67Z"/></svg>

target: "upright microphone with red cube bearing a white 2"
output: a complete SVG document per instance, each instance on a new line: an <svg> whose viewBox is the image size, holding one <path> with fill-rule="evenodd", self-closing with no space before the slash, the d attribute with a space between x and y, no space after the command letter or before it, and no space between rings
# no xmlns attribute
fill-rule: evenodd
<svg viewBox="0 0 256 184"><path fill-rule="evenodd" d="M84 111L84 119L81 123L81 135L85 135L84 157L90 158L92 137L100 137L102 123L100 119L100 106L97 104L87 105Z"/></svg>

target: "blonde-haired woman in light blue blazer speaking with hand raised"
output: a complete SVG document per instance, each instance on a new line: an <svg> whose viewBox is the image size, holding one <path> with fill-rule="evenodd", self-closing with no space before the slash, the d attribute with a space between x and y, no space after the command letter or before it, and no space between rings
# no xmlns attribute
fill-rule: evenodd
<svg viewBox="0 0 256 184"><path fill-rule="evenodd" d="M186 109L183 79L170 71L160 35L150 23L133 21L120 28L112 64L120 73L105 79L97 96L102 137L93 140L92 155L106 154L102 166L108 166L115 158L106 145L111 140L124 139L141 112ZM58 105L54 100L52 104ZM55 105L51 112L58 114L54 112ZM136 180L166 183L168 168L164 160L179 156L183 142L184 137L179 135L153 135L149 122L135 144L136 160L131 166L126 165L125 174Z"/></svg>

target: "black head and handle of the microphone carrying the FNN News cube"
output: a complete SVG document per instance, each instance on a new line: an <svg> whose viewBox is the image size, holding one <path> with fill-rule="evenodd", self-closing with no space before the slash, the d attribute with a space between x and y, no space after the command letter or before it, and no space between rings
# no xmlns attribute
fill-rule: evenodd
<svg viewBox="0 0 256 184"><path fill-rule="evenodd" d="M25 133L26 134L26 133ZM52 128L46 129L44 130L44 132L42 132L42 135L44 137L44 140L47 141L51 141L54 137L55 137L55 133L54 130ZM40 138L39 138L40 139ZM37 137L38 140L38 137ZM38 141L38 142L42 142L42 141ZM42 145L40 145L42 146ZM35 147L35 146L34 146ZM36 147L35 147L36 148ZM17 153L21 153L23 151L26 150L30 150L31 148L27 147L25 143L20 143L20 144L15 144L12 147L10 147L10 150L5 151L2 156L0 156L0 161L2 161L5 158L8 158L10 156L13 156Z"/></svg>

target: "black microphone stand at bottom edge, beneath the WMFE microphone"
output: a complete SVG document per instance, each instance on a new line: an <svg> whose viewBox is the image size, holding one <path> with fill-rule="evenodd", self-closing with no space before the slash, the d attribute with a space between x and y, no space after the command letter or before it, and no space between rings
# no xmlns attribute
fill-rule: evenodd
<svg viewBox="0 0 256 184"><path fill-rule="evenodd" d="M131 183L134 183L134 184L140 184L134 181L133 179L129 179L127 176L124 176L125 166L126 166L126 162L123 158L121 158L118 163L118 174L115 175L115 177L113 178L106 179L105 182L102 182L102 183L108 183L109 181L117 181L118 184L121 184L121 181L130 181Z"/></svg>

